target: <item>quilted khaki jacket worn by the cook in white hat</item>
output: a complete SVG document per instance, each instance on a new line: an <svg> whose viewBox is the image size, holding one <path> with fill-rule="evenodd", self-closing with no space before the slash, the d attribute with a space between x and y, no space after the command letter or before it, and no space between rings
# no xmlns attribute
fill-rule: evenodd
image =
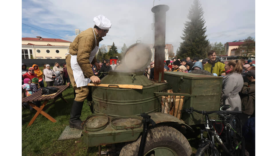
<svg viewBox="0 0 277 156"><path fill-rule="evenodd" d="M96 36L96 42L94 33ZM88 28L87 30L81 32L69 45L69 53L71 55L77 55L77 62L86 78L94 75L88 59L90 58L90 52L96 45L99 46L99 42L101 40L103 39L99 37L93 28Z"/></svg>

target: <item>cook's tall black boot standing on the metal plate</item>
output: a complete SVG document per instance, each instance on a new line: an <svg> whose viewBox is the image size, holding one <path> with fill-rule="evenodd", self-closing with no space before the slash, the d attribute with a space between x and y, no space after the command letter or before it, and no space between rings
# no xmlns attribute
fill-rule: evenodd
<svg viewBox="0 0 277 156"><path fill-rule="evenodd" d="M82 120L80 119L84 102L73 101L70 112L69 127L83 129Z"/></svg>

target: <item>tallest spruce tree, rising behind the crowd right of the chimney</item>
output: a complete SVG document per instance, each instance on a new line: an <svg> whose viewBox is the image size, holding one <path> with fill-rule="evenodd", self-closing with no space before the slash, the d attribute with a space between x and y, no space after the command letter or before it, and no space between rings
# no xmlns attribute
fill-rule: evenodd
<svg viewBox="0 0 277 156"><path fill-rule="evenodd" d="M190 58L199 57L205 58L205 50L208 46L207 35L205 35L206 27L204 27L205 19L203 18L203 8L198 0L194 0L189 14L187 15L189 22L185 23L183 36L177 57Z"/></svg>

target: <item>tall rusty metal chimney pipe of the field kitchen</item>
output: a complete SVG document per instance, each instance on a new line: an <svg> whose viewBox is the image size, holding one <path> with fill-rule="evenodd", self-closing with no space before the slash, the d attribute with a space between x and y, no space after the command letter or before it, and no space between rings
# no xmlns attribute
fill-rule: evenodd
<svg viewBox="0 0 277 156"><path fill-rule="evenodd" d="M155 67L154 81L164 82L164 60L165 60L165 12L169 10L167 5L156 5L151 9L155 17Z"/></svg>

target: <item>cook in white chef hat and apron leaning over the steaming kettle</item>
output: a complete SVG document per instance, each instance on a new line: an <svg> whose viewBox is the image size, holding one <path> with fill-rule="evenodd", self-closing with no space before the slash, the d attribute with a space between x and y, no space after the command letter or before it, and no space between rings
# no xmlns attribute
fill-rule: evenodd
<svg viewBox="0 0 277 156"><path fill-rule="evenodd" d="M100 69L97 63L96 53L99 49L99 42L106 36L112 23L103 15L93 19L94 27L81 32L69 46L66 54L67 72L70 82L76 91L69 119L69 126L83 129L80 119L83 103L88 96L88 83L100 83L99 77L94 76L90 63Z"/></svg>

